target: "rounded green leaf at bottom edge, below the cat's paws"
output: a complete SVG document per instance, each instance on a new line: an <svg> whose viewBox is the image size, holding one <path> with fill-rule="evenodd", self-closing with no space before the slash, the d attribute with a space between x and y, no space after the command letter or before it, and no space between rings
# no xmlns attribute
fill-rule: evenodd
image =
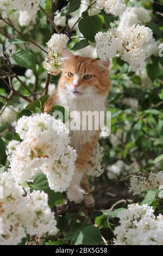
<svg viewBox="0 0 163 256"><path fill-rule="evenodd" d="M74 245L99 245L102 242L101 231L89 226L83 228Z"/></svg>

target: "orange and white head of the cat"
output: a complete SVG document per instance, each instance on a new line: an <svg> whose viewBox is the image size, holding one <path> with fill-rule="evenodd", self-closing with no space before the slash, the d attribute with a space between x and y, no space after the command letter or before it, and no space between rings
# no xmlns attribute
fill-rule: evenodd
<svg viewBox="0 0 163 256"><path fill-rule="evenodd" d="M63 50L65 68L62 71L59 87L74 98L107 95L110 82L108 69L110 61L96 60L88 57L74 56Z"/></svg>

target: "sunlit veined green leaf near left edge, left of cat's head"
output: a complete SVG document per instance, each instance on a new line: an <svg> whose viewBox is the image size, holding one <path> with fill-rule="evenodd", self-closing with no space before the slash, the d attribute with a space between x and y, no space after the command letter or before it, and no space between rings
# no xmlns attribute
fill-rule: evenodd
<svg viewBox="0 0 163 256"><path fill-rule="evenodd" d="M14 59L18 65L26 69L36 70L35 56L27 50L22 48L18 49L16 53L12 54L12 59Z"/></svg>

